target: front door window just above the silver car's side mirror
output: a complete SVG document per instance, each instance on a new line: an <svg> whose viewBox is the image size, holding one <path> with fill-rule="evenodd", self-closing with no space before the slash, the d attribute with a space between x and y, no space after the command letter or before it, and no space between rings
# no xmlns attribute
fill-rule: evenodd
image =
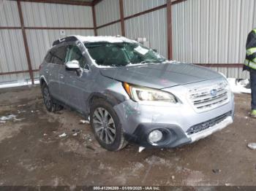
<svg viewBox="0 0 256 191"><path fill-rule="evenodd" d="M81 68L85 67L86 65L86 58L82 55L80 49L75 45L69 45L68 47L66 62L68 61L78 61Z"/></svg>

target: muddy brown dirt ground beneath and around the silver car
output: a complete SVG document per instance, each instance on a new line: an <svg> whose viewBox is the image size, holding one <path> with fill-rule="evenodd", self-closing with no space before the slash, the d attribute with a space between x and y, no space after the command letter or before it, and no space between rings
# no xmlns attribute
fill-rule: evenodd
<svg viewBox="0 0 256 191"><path fill-rule="evenodd" d="M233 125L194 144L108 152L77 112L47 112L38 86L1 89L0 185L256 185L249 102L237 94Z"/></svg>

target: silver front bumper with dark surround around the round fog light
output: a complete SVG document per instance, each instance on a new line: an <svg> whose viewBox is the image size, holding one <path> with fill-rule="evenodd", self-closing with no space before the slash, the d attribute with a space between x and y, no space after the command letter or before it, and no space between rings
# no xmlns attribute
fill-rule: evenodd
<svg viewBox="0 0 256 191"><path fill-rule="evenodd" d="M229 93L228 102L222 106L198 112L187 100L187 89L179 86L168 90L178 95L176 97L181 100L178 104L143 104L127 100L114 106L127 141L142 147L178 147L210 136L233 122L233 93ZM200 130L191 133L194 127ZM166 139L150 143L148 134L152 130L164 131Z"/></svg>

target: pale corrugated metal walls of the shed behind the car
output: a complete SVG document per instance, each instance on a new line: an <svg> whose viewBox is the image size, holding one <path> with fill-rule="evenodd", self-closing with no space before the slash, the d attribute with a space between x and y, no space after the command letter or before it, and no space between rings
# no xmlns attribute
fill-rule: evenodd
<svg viewBox="0 0 256 191"><path fill-rule="evenodd" d="M0 26L20 27L16 1L0 4ZM166 0L124 0L124 17L151 9ZM93 28L91 7L21 2L26 27ZM119 1L104 0L95 7L97 26L120 19ZM173 58L192 63L243 63L246 36L256 27L255 0L187 0L173 5ZM126 36L146 37L150 47L167 57L166 8L125 20ZM66 35L94 35L93 30L65 30ZM121 34L121 23L97 30ZM26 29L33 69L38 69L59 30ZM20 29L0 30L0 72L28 70ZM214 68L227 77L249 77L237 68ZM38 76L34 72L35 77ZM29 78L29 73L0 75L0 83Z"/></svg>

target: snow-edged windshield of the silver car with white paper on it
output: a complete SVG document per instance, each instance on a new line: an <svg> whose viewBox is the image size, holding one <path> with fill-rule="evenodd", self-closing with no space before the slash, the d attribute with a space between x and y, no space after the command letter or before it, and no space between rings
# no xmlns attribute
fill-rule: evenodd
<svg viewBox="0 0 256 191"><path fill-rule="evenodd" d="M99 66L127 66L137 63L161 63L166 61L154 50L138 43L85 43L86 48Z"/></svg>

